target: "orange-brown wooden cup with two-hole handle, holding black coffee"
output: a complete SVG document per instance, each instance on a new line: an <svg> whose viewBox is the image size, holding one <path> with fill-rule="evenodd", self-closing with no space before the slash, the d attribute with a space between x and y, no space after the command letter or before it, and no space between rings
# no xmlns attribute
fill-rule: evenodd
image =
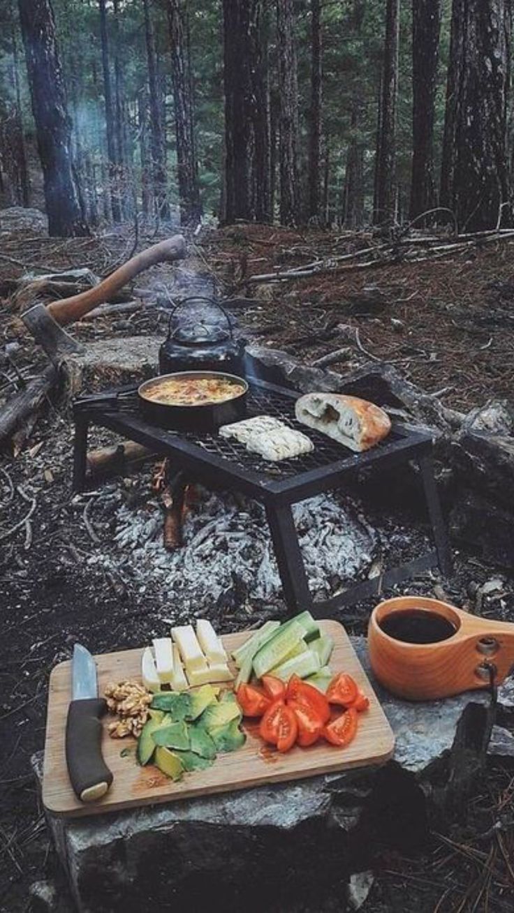
<svg viewBox="0 0 514 913"><path fill-rule="evenodd" d="M423 610L442 615L455 634L434 644L396 640L381 628L397 612ZM514 624L485 621L448 603L423 596L388 599L373 609L368 626L372 670L393 694L409 700L434 700L471 688L488 687L490 667L496 684L514 665Z"/></svg>

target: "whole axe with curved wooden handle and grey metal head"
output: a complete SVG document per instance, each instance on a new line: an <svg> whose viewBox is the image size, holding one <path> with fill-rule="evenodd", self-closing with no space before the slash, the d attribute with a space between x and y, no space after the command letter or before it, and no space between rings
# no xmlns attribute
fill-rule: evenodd
<svg viewBox="0 0 514 913"><path fill-rule="evenodd" d="M33 305L21 315L22 320L52 362L58 360L58 356L65 352L84 352L84 346L76 342L63 327L80 320L89 313L89 310L109 299L143 269L162 263L163 260L180 260L185 254L184 237L170 237L148 247L147 250L142 250L141 254L136 254L93 289L80 292L71 298L52 301L48 305L41 302Z"/></svg>

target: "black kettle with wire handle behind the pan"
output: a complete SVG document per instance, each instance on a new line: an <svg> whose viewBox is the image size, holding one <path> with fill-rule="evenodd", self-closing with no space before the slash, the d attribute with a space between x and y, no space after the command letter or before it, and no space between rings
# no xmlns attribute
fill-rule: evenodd
<svg viewBox="0 0 514 913"><path fill-rule="evenodd" d="M190 311L190 319L182 324L175 323L173 327L177 310L185 304ZM213 318L213 309L222 311L222 323L219 314ZM218 301L198 296L185 298L170 315L168 336L159 349L159 371L162 374L222 371L244 377L245 344L246 340L234 338L230 318Z"/></svg>

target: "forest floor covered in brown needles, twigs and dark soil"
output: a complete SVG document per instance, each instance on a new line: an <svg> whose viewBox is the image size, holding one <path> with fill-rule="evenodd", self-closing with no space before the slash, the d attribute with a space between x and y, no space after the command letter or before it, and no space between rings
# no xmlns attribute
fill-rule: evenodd
<svg viewBox="0 0 514 913"><path fill-rule="evenodd" d="M0 222L0 231L2 224ZM142 236L143 243L158 238ZM323 274L282 286L247 278L266 274L278 265L299 266L309 259L344 253L351 246L372 244L370 236L344 236L320 229L299 234L269 226L236 226L205 231L194 257L179 269L204 270L220 291L233 296L235 313L251 338L284 349L304 362L344 348L331 368L344 373L373 359L392 362L406 377L444 404L467 411L491 397L514 395L514 244L507 241L466 256L373 267L348 274ZM16 279L31 268L65 269L88 266L98 275L128 256L131 229L63 242L47 238L37 226L16 227L0 237L0 339L19 339L20 325L9 307ZM157 289L170 278L170 268L154 268L139 282ZM130 297L130 296L128 296ZM104 336L155 332L164 336L166 313L139 310L130 317L99 318L73 328L82 341ZM348 328L353 328L349 331ZM342 328L342 329L341 329ZM355 330L358 333L355 334ZM26 378L45 364L36 347L23 341L16 366ZM7 381L10 367L3 367ZM5 392L5 375L0 393ZM0 726L4 751L0 761L0 910L31 909L28 887L41 879L57 879L62 911L66 888L47 837L30 757L44 742L47 679L51 668L68 658L73 643L93 652L138 646L155 630L151 593L141 593L130 580L105 572L89 561L96 549L84 521L86 501L70 490L72 426L68 411L55 403L41 419L24 450L0 462L0 535L10 530L28 508L16 497L21 488L36 498L31 540L23 527L0 541L0 613L3 659ZM92 445L103 444L93 433ZM148 485L150 470L137 481L120 485L131 494ZM10 495L10 483L15 495ZM109 545L104 518L93 530L100 548ZM101 521L100 521L101 520ZM493 575L473 555L461 552L456 573L445 582L448 597L463 605ZM413 584L419 593L434 593L436 574ZM514 620L514 581L503 574L501 602L485 597L484 611L500 611ZM351 633L365 633L372 602L344 614ZM171 611L171 610L170 610ZM251 611L251 606L250 606ZM342 618L342 614L341 614ZM247 624L248 607L236 607L222 621L222 630ZM254 620L254 618L252 619ZM433 834L427 845L406 853L399 847L377 860L375 883L363 913L449 913L449 911L511 909L513 877L512 828L488 833L514 795L514 770L509 763L489 765L477 782L476 794L451 834ZM450 841L450 842L448 842ZM341 909L333 898L327 911ZM60 909L60 908L59 908ZM71 909L71 906L69 906ZM319 907L316 913L322 913ZM298 905L291 907L300 910ZM226 911L228 913L228 911ZM280 913L289 913L282 909ZM314 911L313 911L314 913Z"/></svg>

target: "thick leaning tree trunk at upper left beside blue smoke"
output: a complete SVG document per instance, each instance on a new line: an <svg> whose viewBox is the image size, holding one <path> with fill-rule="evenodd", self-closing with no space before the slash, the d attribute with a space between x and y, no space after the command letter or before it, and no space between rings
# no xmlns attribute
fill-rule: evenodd
<svg viewBox="0 0 514 913"><path fill-rule="evenodd" d="M43 169L48 231L59 236L88 235L72 173L71 127L53 10L49 0L18 0L18 6Z"/></svg>

